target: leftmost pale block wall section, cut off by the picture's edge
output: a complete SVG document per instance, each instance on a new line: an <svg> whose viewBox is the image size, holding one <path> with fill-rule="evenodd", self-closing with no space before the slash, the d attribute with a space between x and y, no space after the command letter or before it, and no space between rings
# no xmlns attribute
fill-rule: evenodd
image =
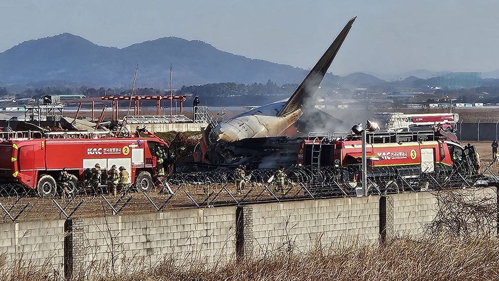
<svg viewBox="0 0 499 281"><path fill-rule="evenodd" d="M64 262L64 220L0 224L0 256L7 265L46 265L61 270Z"/></svg>

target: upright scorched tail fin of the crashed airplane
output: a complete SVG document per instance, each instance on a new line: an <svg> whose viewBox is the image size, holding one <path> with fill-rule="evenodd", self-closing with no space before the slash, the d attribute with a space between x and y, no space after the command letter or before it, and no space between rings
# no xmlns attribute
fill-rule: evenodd
<svg viewBox="0 0 499 281"><path fill-rule="evenodd" d="M356 16L350 19L345 27L343 27L343 30L341 30L336 39L334 39L329 48L327 48L319 61L317 61L312 70L308 72L305 79L303 79L301 84L296 88L296 90L294 90L294 93L288 99L284 107L282 107L279 111L277 116L284 116L293 112L294 110L300 108L306 99L314 95L320 82L324 78L324 75L326 75L327 69L331 65L331 62L333 62L336 53L338 53L341 44L345 40L348 31L350 31L355 18Z"/></svg>

